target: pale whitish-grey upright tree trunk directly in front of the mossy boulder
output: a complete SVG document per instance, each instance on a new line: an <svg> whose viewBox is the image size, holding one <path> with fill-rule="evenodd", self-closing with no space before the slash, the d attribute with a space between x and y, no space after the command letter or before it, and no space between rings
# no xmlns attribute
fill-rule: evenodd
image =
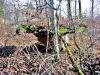
<svg viewBox="0 0 100 75"><path fill-rule="evenodd" d="M50 20L53 25L54 29L54 51L55 51L55 62L58 62L60 59L59 56L59 44L58 44L58 16L57 16L57 10L55 11L54 8L54 1L50 0Z"/></svg>

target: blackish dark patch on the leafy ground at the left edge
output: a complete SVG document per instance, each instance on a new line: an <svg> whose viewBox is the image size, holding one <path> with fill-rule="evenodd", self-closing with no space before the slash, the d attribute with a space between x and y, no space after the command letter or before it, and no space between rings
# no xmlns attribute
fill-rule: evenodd
<svg viewBox="0 0 100 75"><path fill-rule="evenodd" d="M15 46L0 46L0 57L7 57L15 52Z"/></svg>

